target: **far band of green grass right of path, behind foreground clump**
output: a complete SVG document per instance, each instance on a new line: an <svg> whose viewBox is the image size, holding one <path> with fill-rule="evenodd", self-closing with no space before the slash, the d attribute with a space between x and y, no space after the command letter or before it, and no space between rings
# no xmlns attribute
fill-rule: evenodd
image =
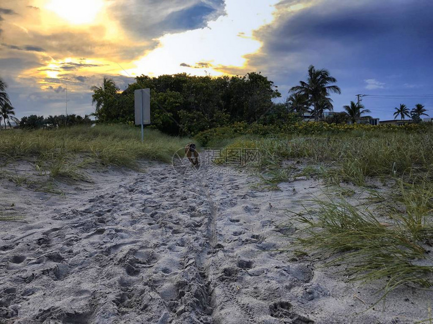
<svg viewBox="0 0 433 324"><path fill-rule="evenodd" d="M433 169L433 133L358 132L325 136L235 139L227 148L254 147L261 153L260 167L285 159L328 163L341 180L365 185L366 177L400 176Z"/></svg>

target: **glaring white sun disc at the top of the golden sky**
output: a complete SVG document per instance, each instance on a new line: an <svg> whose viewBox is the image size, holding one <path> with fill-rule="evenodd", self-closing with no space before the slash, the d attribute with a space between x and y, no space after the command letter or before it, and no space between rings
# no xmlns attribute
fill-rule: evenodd
<svg viewBox="0 0 433 324"><path fill-rule="evenodd" d="M103 0L50 0L45 8L71 24L90 24L104 6Z"/></svg>

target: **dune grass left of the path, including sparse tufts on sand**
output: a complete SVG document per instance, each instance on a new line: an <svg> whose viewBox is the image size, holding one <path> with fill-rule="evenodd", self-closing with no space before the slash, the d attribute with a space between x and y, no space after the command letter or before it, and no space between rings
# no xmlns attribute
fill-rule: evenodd
<svg viewBox="0 0 433 324"><path fill-rule="evenodd" d="M91 181L82 170L87 166L137 167L141 159L170 162L187 139L170 137L126 125L74 126L67 129L0 132L0 161L33 164L41 176L60 180ZM28 182L25 174L2 172L17 185Z"/></svg>

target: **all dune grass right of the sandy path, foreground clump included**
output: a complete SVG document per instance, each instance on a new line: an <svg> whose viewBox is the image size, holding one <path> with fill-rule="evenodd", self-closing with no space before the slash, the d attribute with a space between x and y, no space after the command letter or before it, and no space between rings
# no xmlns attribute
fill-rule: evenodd
<svg viewBox="0 0 433 324"><path fill-rule="evenodd" d="M277 190L278 183L304 175L325 180L330 191L341 191L343 181L369 192L367 202L355 207L355 191L343 188L340 198L315 200L314 211L292 217L299 231L287 237L291 251L320 256L325 267L340 266L353 280L382 280L382 298L402 285L433 286L433 257L428 253L433 246L431 129L242 137L233 139L231 147L260 150L260 162L250 167L263 173L257 184L261 189ZM304 168L294 170L284 160L300 160ZM388 190L378 189L379 182L389 185Z"/></svg>

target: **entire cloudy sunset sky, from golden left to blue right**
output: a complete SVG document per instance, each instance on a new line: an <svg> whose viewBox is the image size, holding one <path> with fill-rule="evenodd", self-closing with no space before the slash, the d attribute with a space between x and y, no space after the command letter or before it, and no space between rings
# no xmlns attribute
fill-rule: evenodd
<svg viewBox="0 0 433 324"><path fill-rule="evenodd" d="M92 85L141 74L261 72L287 91L309 65L371 116L433 117L431 0L2 0L0 77L17 117L94 112Z"/></svg>

